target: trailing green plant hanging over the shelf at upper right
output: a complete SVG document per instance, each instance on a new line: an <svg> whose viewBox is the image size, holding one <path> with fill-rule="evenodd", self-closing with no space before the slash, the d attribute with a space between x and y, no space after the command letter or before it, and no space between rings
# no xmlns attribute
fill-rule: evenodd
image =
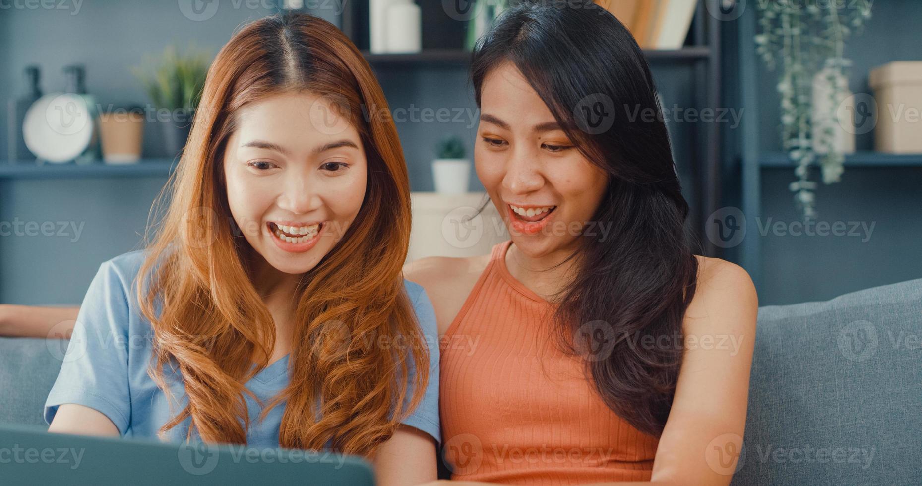
<svg viewBox="0 0 922 486"><path fill-rule="evenodd" d="M759 33L756 51L769 70L780 64L777 89L781 96L781 139L787 156L797 164L798 180L790 184L804 219L815 219L815 190L810 180L810 165L822 168L823 184L839 182L845 155L833 144L836 109L844 91L839 79L847 78L851 65L845 59L845 38L852 30L860 31L870 18L868 0L763 0L759 9ZM816 113L812 101L813 77L822 70L830 83L830 102L824 103L833 113ZM821 153L814 147L814 124L820 133Z"/></svg>

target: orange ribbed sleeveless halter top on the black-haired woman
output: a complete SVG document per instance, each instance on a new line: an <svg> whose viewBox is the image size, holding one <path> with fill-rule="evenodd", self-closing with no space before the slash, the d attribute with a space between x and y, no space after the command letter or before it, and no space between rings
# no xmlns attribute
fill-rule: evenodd
<svg viewBox="0 0 922 486"><path fill-rule="evenodd" d="M493 247L442 340L440 409L452 479L650 480L658 440L612 412L584 362L561 350L551 304L506 268L511 244Z"/></svg>

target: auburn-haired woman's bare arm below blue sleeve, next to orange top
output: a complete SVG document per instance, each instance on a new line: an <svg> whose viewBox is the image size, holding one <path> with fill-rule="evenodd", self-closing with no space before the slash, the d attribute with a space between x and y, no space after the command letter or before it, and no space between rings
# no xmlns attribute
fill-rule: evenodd
<svg viewBox="0 0 922 486"><path fill-rule="evenodd" d="M373 459L379 486L422 484L438 478L435 440L428 433L401 425Z"/></svg>

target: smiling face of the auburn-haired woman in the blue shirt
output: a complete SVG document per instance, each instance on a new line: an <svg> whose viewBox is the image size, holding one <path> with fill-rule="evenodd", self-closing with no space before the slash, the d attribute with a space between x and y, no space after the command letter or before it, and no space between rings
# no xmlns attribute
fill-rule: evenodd
<svg viewBox="0 0 922 486"><path fill-rule="evenodd" d="M359 214L367 160L358 131L325 98L286 92L245 105L224 156L238 227L280 272L311 270Z"/></svg>

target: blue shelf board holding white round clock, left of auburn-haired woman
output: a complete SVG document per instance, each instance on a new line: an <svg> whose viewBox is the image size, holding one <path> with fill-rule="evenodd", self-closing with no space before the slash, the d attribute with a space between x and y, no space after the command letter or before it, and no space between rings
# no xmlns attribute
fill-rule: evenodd
<svg viewBox="0 0 922 486"><path fill-rule="evenodd" d="M0 160L0 179L76 179L84 177L152 177L170 175L179 160L143 159L130 164L37 164L34 160Z"/></svg>

